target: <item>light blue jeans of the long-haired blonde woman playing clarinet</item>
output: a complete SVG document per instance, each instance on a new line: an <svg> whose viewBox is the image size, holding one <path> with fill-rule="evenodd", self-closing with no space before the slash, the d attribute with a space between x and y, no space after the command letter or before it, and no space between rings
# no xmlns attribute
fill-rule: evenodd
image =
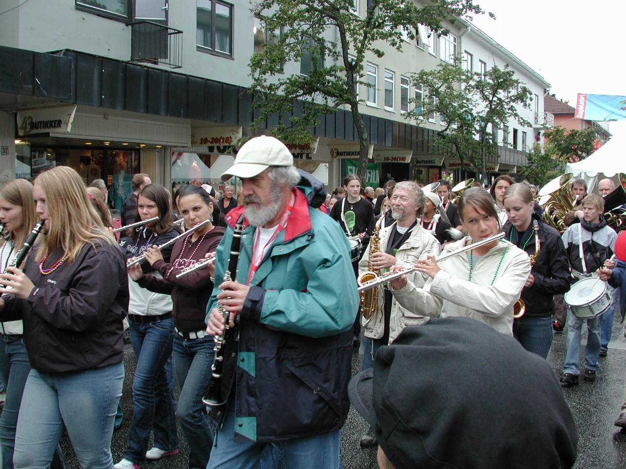
<svg viewBox="0 0 626 469"><path fill-rule="evenodd" d="M49 468L63 424L81 468L111 469L113 420L124 382L124 363L74 373L31 370L15 437L17 468Z"/></svg>

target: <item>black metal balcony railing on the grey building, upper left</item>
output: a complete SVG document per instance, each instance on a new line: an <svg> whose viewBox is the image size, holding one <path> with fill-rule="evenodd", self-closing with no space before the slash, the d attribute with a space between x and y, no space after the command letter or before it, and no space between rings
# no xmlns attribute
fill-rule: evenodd
<svg viewBox="0 0 626 469"><path fill-rule="evenodd" d="M131 61L183 66L183 32L153 21L135 21L131 26Z"/></svg>

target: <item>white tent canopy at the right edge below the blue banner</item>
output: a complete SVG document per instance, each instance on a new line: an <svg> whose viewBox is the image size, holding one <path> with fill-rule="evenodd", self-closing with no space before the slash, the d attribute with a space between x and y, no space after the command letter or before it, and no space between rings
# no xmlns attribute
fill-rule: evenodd
<svg viewBox="0 0 626 469"><path fill-rule="evenodd" d="M619 174L626 173L626 136L613 136L587 158L567 163L565 172L585 179L590 191L603 177L619 184Z"/></svg>

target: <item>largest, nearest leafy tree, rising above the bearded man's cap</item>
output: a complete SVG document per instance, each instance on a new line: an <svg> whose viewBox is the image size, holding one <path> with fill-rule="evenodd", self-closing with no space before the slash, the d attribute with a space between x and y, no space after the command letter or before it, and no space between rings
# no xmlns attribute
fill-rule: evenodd
<svg viewBox="0 0 626 469"><path fill-rule="evenodd" d="M364 15L355 14L354 5L355 0L255 3L252 13L269 33L263 50L250 59L250 90L259 113L253 127L275 114L279 122L272 133L293 143L309 143L310 128L322 114L340 106L351 109L359 136L358 174L364 180L369 134L356 85L372 86L363 80L366 56L382 58L382 44L400 51L403 34L413 40L418 24L447 33L443 21L483 11L472 0L436 0L419 7L412 0L368 0ZM327 34L333 29L336 39ZM282 75L286 63L302 60L310 64L306 74Z"/></svg>

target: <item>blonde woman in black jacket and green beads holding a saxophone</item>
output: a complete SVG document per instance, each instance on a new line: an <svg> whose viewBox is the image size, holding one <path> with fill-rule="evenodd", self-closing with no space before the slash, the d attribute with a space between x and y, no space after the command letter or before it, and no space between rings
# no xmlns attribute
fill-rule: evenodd
<svg viewBox="0 0 626 469"><path fill-rule="evenodd" d="M521 291L526 310L513 321L513 336L526 350L548 358L553 336L553 298L570 290L567 252L558 231L543 223L535 213L530 187L513 184L506 189L504 202L508 213L503 226L506 239L529 256L535 256L531 274Z"/></svg>

